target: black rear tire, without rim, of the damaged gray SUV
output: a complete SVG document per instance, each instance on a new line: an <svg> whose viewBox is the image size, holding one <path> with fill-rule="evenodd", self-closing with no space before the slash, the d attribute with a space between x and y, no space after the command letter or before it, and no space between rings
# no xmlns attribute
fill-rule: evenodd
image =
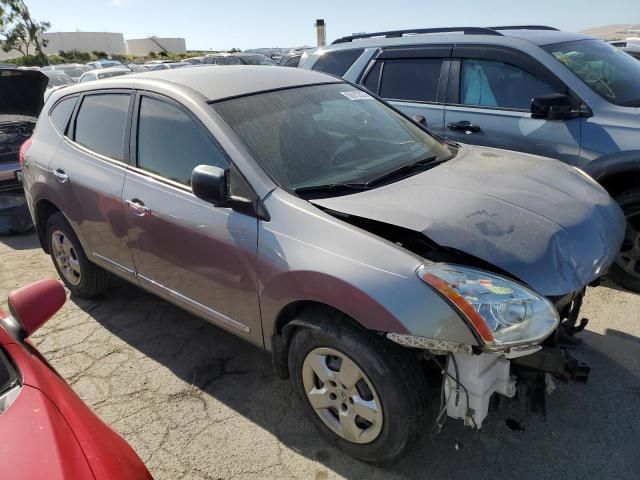
<svg viewBox="0 0 640 480"><path fill-rule="evenodd" d="M52 236L55 231L62 232L73 245L77 261L80 265L80 279L79 283L75 285L66 278L58 265L58 262L54 258ZM109 285L109 273L89 261L87 255L82 249L82 245L80 244L77 235L73 231L73 228L60 212L56 212L48 218L46 235L47 247L49 248L53 265L56 267L56 271L65 286L72 294L82 298L94 298L107 290Z"/></svg>

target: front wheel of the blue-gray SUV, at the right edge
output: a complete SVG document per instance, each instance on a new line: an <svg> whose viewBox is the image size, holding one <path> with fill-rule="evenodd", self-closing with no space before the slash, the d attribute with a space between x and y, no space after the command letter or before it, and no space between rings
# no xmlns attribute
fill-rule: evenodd
<svg viewBox="0 0 640 480"><path fill-rule="evenodd" d="M616 201L627 219L627 231L609 276L624 288L640 292L640 190L628 190Z"/></svg>

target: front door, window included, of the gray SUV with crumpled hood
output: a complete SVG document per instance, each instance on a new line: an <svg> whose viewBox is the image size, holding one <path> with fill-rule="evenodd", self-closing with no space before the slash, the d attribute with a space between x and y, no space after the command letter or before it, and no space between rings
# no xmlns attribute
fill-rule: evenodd
<svg viewBox="0 0 640 480"><path fill-rule="evenodd" d="M136 100L125 178L129 247L140 285L262 346L255 217L218 208L191 192L198 165L229 168L209 132L181 105Z"/></svg>

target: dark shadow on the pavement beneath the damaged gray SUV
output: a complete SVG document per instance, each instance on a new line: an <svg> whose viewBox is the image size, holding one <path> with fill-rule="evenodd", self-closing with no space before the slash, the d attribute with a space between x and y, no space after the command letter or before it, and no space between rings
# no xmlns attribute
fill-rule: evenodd
<svg viewBox="0 0 640 480"><path fill-rule="evenodd" d="M397 465L376 468L342 454L314 430L261 349L129 285L96 301L72 301L184 382L346 478L602 479L640 471L640 355L638 339L623 332L582 332L579 353L593 369L590 381L555 382L546 421L507 400L479 432L450 419L436 434L439 385L432 385L418 444Z"/></svg>

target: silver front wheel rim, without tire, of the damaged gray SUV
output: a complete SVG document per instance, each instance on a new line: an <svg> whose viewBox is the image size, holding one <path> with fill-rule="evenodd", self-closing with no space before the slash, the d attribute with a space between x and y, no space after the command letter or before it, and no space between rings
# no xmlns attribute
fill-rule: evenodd
<svg viewBox="0 0 640 480"><path fill-rule="evenodd" d="M373 442L382 431L382 405L371 381L347 355L316 348L302 365L309 403L334 433L345 440Z"/></svg>

